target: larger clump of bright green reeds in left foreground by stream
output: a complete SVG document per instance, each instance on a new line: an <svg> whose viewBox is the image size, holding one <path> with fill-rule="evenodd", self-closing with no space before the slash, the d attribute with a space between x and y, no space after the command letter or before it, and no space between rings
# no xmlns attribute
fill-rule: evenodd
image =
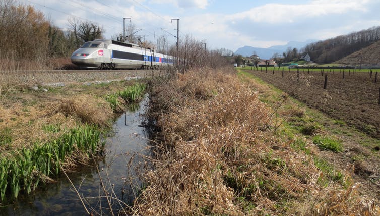
<svg viewBox="0 0 380 216"><path fill-rule="evenodd" d="M0 200L6 200L7 191L13 198L17 198L21 189L29 194L42 177L59 174L65 158L77 150L87 157L95 154L104 147L100 134L96 126L84 125L69 130L56 140L35 143L31 149L22 148L10 159L0 158Z"/></svg>

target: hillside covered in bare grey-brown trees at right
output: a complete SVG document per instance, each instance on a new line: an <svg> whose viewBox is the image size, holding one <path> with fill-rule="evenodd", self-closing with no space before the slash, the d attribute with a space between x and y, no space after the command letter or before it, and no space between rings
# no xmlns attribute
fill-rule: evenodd
<svg viewBox="0 0 380 216"><path fill-rule="evenodd" d="M309 53L311 60L315 63L332 63L379 40L380 26L377 26L311 43L306 45L301 52ZM378 64L378 62L368 62L368 64Z"/></svg>

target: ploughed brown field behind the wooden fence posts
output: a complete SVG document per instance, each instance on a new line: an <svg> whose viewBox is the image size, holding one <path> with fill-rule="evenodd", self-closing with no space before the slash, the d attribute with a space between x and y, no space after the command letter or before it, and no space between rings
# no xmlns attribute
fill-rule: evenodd
<svg viewBox="0 0 380 216"><path fill-rule="evenodd" d="M294 98L305 102L309 106L321 110L334 119L342 120L354 125L361 131L380 138L380 104L379 88L380 74L375 83L375 72L370 77L369 72L359 70L324 70L284 68L278 71L275 68L250 70L245 68L263 81L272 84L291 94ZM344 73L344 75L343 75ZM324 89L325 75L327 74L327 88ZM343 78L344 76L344 78Z"/></svg>

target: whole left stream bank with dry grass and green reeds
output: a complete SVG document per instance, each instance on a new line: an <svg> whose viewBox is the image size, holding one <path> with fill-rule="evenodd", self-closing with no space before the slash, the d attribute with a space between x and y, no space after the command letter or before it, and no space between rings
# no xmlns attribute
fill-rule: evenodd
<svg viewBox="0 0 380 216"><path fill-rule="evenodd" d="M145 91L144 84L132 82L47 91L5 81L0 86L0 203L54 181L62 169L72 170L101 156L100 137L110 128L114 112L139 100Z"/></svg>

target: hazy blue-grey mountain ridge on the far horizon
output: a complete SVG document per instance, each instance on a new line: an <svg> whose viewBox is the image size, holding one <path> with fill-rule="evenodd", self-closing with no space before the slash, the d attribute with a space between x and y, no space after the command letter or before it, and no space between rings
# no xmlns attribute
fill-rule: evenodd
<svg viewBox="0 0 380 216"><path fill-rule="evenodd" d="M286 45L271 46L268 48L244 46L244 47L238 48L234 54L246 57L246 56L251 56L254 52L256 52L256 55L258 55L261 59L270 59L272 58L273 54L276 52L282 55L282 53L285 52L288 47L301 49L307 44L316 42L316 41L317 40L307 40L304 42L290 41Z"/></svg>

